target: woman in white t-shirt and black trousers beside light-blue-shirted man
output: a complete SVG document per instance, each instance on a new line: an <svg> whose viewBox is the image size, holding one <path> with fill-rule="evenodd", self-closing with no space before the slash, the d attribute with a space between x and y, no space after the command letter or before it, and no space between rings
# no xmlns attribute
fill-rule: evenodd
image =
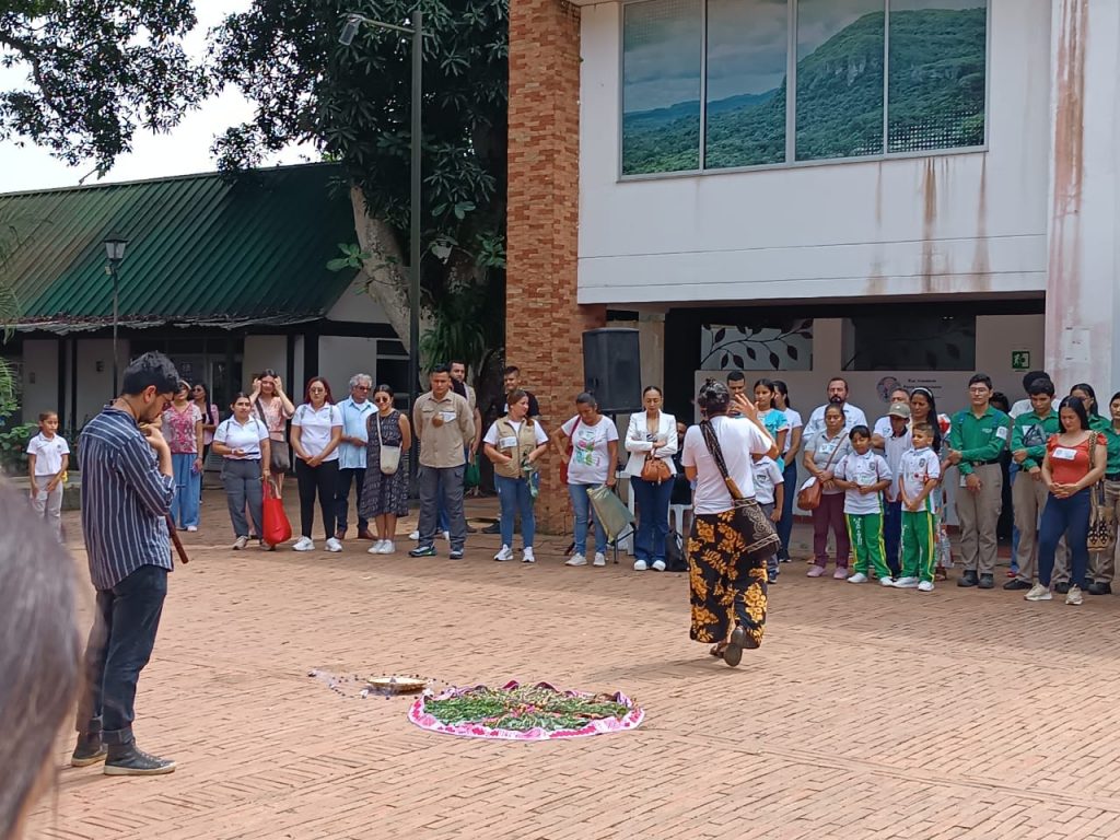
<svg viewBox="0 0 1120 840"><path fill-rule="evenodd" d="M311 526L315 497L319 497L327 551L342 551L335 535L335 493L338 487L338 444L343 439L343 414L330 395L330 383L321 376L307 381L304 403L291 418L291 448L296 451L299 486L300 538L296 551L314 551Z"/></svg>

